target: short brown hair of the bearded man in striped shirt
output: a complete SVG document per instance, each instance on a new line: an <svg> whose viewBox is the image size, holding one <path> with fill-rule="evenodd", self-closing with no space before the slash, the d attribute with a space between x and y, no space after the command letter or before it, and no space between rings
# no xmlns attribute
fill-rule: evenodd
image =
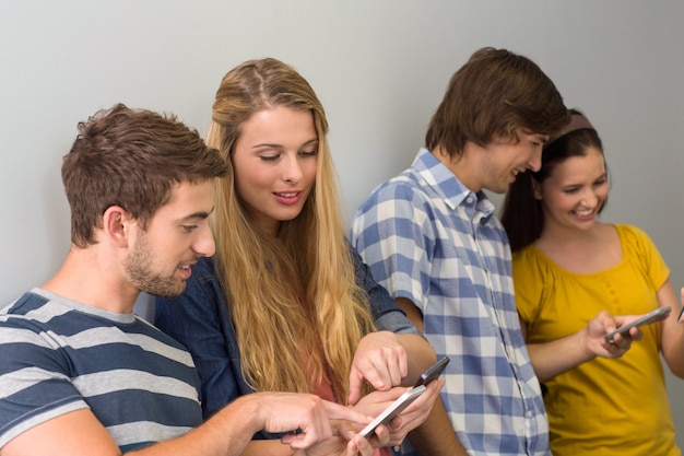
<svg viewBox="0 0 684 456"><path fill-rule="evenodd" d="M79 136L62 162L71 241L79 247L95 244L94 230L111 206L126 209L144 229L175 184L225 173L217 151L174 115L122 104L99 110L79 122Z"/></svg>

